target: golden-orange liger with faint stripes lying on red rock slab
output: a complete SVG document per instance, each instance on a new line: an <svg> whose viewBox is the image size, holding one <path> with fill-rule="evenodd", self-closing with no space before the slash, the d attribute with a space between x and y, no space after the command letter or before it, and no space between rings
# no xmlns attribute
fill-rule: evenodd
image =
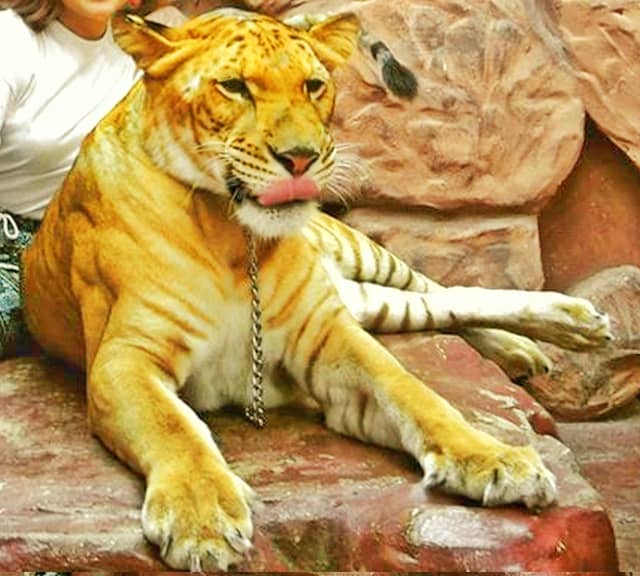
<svg viewBox="0 0 640 576"><path fill-rule="evenodd" d="M327 130L329 71L356 43L355 18L301 31L223 11L119 30L145 77L85 140L25 253L25 315L46 350L87 371L92 430L145 476L143 529L164 560L226 569L251 546L253 492L195 413L249 400L245 228L259 238L268 406L312 397L334 430L412 454L426 487L550 504L554 478L532 448L473 429L359 323L484 326L484 311L457 292L449 303L311 200L260 202L289 190L300 166L318 190L340 191L349 161ZM499 326L526 315L522 296L505 311L502 295L476 295ZM545 306L535 315L565 332L606 332L585 304L572 320ZM485 345L495 334L475 333Z"/></svg>

